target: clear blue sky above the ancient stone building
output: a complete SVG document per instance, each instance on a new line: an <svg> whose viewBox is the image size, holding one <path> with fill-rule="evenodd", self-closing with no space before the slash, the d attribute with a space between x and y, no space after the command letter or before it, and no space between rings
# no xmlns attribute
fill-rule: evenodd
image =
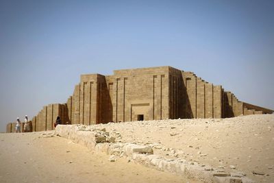
<svg viewBox="0 0 274 183"><path fill-rule="evenodd" d="M0 1L0 131L79 75L173 66L274 109L274 1Z"/></svg>

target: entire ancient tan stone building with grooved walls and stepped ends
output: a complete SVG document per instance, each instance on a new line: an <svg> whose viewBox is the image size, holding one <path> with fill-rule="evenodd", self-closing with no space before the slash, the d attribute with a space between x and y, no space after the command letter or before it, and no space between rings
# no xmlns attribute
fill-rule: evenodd
<svg viewBox="0 0 274 183"><path fill-rule="evenodd" d="M63 123L96 123L225 118L271 114L273 110L238 101L222 86L214 86L194 73L161 66L114 71L114 75L81 75L73 95L64 104L45 106L32 119L33 131L53 130ZM14 131L12 123L7 132Z"/></svg>

